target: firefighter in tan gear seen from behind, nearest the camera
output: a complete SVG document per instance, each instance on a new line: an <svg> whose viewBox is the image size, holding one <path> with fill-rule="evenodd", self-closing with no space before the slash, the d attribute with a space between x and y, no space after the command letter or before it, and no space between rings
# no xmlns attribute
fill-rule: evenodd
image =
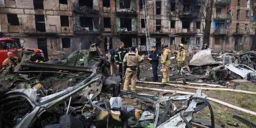
<svg viewBox="0 0 256 128"><path fill-rule="evenodd" d="M124 91L128 91L129 81L131 80L131 91L135 91L135 80L137 76L137 66L144 58L135 53L136 48L132 46L130 52L125 54L123 68L126 69L124 80Z"/></svg>

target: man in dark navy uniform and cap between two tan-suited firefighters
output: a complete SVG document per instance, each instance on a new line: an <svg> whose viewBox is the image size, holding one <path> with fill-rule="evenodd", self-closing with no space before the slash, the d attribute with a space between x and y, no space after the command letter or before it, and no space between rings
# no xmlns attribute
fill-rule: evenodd
<svg viewBox="0 0 256 128"><path fill-rule="evenodd" d="M158 64L159 64L159 57L160 57L160 52L156 50L156 46L152 47L152 52L148 56L148 60L150 60L150 64L152 64L153 68L153 76L154 76L154 81L153 82L158 82L158 74L157 74L157 69L158 69Z"/></svg>

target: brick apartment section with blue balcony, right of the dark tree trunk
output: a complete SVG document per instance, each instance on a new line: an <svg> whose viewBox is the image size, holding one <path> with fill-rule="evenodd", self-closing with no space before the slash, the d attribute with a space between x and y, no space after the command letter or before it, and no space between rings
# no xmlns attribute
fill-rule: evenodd
<svg viewBox="0 0 256 128"><path fill-rule="evenodd" d="M210 48L255 50L255 18L250 0L217 0L214 4Z"/></svg>

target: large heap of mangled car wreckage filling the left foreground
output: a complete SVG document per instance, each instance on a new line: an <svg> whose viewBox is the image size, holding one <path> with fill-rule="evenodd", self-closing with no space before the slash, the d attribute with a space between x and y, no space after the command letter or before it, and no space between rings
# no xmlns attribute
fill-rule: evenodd
<svg viewBox="0 0 256 128"><path fill-rule="evenodd" d="M185 128L193 113L211 108L200 89L194 96L121 92L120 77L110 77L110 62L95 45L64 60L36 61L30 50L19 55L20 64L0 76L1 128ZM124 102L132 98L138 102ZM178 110L174 101L187 106Z"/></svg>

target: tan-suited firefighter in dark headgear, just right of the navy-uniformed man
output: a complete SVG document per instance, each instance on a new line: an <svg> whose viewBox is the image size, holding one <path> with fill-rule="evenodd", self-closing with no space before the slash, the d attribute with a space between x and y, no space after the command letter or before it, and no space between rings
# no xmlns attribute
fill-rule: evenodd
<svg viewBox="0 0 256 128"><path fill-rule="evenodd" d="M168 49L168 44L164 44L162 48L163 48L163 52L161 55L161 64L162 64L162 71L163 71L162 83L165 84L166 82L170 81L171 51Z"/></svg>

